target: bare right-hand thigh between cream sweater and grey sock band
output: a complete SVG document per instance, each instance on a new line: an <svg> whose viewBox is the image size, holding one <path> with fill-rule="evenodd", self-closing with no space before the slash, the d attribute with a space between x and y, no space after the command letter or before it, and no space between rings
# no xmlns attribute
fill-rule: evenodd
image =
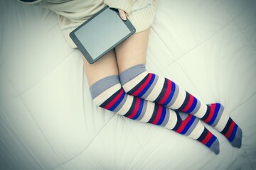
<svg viewBox="0 0 256 170"><path fill-rule="evenodd" d="M115 48L119 73L137 64L146 64L150 28L132 35Z"/></svg>

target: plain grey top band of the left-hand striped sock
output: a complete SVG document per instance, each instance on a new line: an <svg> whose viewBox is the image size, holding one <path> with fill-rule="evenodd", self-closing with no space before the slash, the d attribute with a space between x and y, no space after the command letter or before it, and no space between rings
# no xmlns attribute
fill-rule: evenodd
<svg viewBox="0 0 256 170"><path fill-rule="evenodd" d="M112 76L100 79L95 84L92 84L92 86L90 86L90 94L92 96L92 99L97 97L99 94L102 94L103 91L110 89L110 87L119 83L120 81L117 75L112 75Z"/></svg>

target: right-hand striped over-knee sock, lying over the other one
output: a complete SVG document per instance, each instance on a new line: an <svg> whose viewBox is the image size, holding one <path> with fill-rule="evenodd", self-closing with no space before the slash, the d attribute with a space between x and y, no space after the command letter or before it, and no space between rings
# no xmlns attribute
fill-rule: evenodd
<svg viewBox="0 0 256 170"><path fill-rule="evenodd" d="M174 81L151 74L144 64L131 67L120 75L127 94L159 103L174 111L190 113L221 132L233 147L241 147L242 130L226 114L220 103L206 105L181 89Z"/></svg>

